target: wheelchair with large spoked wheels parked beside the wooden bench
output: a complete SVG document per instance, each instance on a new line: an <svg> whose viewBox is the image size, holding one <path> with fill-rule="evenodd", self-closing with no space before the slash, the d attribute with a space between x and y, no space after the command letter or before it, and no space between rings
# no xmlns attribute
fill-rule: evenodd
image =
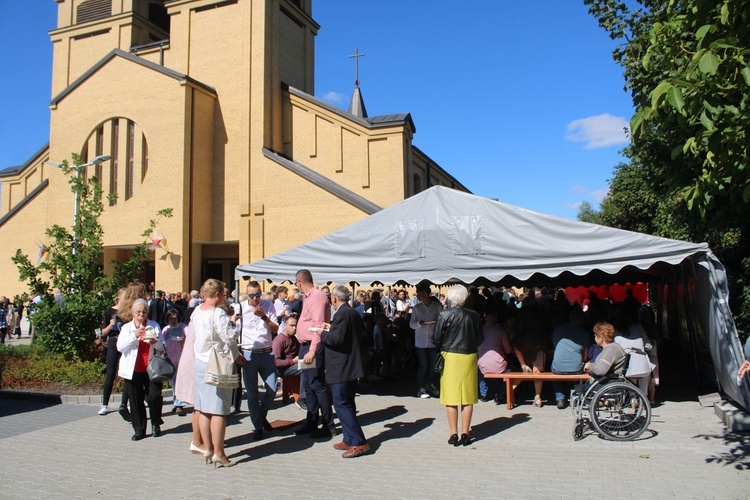
<svg viewBox="0 0 750 500"><path fill-rule="evenodd" d="M583 439L587 428L604 439L630 441L643 434L651 423L648 398L624 375L607 375L577 384L571 391L570 406L576 417L574 441Z"/></svg>

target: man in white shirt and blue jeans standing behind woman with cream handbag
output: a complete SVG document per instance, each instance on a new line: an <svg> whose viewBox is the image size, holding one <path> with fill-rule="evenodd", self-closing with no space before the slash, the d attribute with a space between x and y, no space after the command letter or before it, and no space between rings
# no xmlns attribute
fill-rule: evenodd
<svg viewBox="0 0 750 500"><path fill-rule="evenodd" d="M243 381L247 391L247 407L250 420L255 427L253 437L263 438L263 431L273 428L266 420L268 410L276 397L278 375L271 349L273 336L278 332L276 308L268 300L261 300L262 292L257 281L247 285L248 299L242 304L242 347L245 364L242 367ZM258 375L265 385L263 401L258 396Z"/></svg>

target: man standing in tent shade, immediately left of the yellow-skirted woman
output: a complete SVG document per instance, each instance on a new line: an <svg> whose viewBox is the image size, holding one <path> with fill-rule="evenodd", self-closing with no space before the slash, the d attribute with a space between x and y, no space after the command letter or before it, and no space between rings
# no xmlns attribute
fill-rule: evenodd
<svg viewBox="0 0 750 500"><path fill-rule="evenodd" d="M422 399L430 397L430 393L437 395L437 387L433 384L435 378L433 367L438 356L438 348L432 343L432 331L435 321L442 310L440 301L433 299L428 285L417 286L417 298L419 303L411 310L409 326L414 330L414 347L417 350L419 360L419 392L417 396Z"/></svg>

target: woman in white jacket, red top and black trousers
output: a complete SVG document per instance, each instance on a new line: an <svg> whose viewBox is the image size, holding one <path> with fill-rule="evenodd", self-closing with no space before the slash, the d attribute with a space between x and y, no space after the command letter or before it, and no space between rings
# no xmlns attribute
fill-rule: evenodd
<svg viewBox="0 0 750 500"><path fill-rule="evenodd" d="M161 435L162 382L150 380L147 369L152 346L163 350L159 343L159 324L148 320L148 302L137 299L131 307L133 319L122 326L117 338L117 350L122 353L118 375L125 380L125 391L130 400L130 413L135 434L131 438L139 441L146 437L146 406L151 414L151 435Z"/></svg>

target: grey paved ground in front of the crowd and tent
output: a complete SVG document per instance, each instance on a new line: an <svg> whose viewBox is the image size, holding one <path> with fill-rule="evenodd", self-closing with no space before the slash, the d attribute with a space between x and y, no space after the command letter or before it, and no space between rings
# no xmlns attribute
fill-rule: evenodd
<svg viewBox="0 0 750 500"><path fill-rule="evenodd" d="M650 432L628 443L574 442L570 411L554 405L480 403L476 441L454 448L444 408L413 394L391 384L357 398L373 453L350 460L292 429L254 442L247 413L232 416L227 451L240 463L218 470L188 452L189 417L170 413L162 437L132 442L96 405L0 397L0 497L750 498L750 435L727 433L693 398L657 407ZM280 398L269 415L302 417Z"/></svg>

